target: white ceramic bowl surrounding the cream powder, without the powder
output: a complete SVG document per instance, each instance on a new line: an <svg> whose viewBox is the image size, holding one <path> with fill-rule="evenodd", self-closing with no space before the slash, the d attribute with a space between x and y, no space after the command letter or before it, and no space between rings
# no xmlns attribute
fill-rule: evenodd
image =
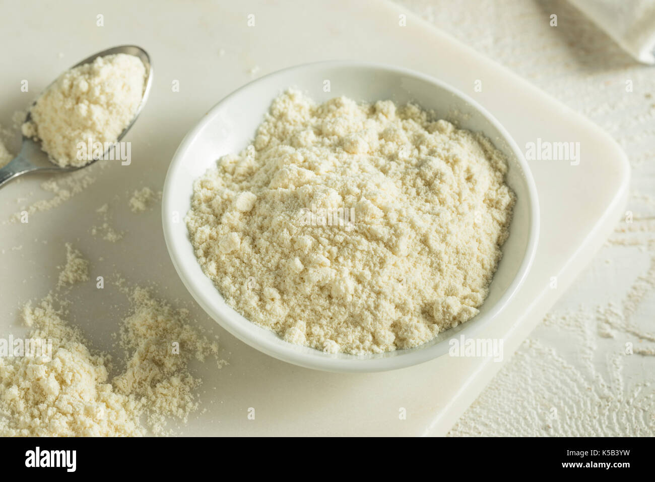
<svg viewBox="0 0 655 482"><path fill-rule="evenodd" d="M331 91L324 92L329 80ZM229 307L214 283L202 272L193 252L183 220L191 207L193 181L227 153L250 144L273 98L289 87L307 92L324 102L345 95L358 101L391 99L415 101L434 109L440 117L458 113L459 126L481 131L509 159L507 183L516 193L510 235L502 247L489 289L479 314L470 321L441 332L434 340L409 350L373 355L323 353L283 341L274 332L251 323ZM195 300L223 328L243 342L302 367L337 372L374 372L400 369L428 361L449 350L448 340L457 334L472 338L487 323L493 323L521 286L536 250L539 210L536 188L523 154L510 134L474 100L421 73L366 62L319 62L281 70L236 90L216 104L180 144L166 175L162 198L162 220L168 252L183 283Z"/></svg>

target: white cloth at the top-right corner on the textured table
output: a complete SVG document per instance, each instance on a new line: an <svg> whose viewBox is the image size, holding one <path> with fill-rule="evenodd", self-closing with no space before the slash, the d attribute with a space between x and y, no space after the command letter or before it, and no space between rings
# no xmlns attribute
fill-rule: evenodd
<svg viewBox="0 0 655 482"><path fill-rule="evenodd" d="M569 1L639 62L655 64L655 0Z"/></svg>

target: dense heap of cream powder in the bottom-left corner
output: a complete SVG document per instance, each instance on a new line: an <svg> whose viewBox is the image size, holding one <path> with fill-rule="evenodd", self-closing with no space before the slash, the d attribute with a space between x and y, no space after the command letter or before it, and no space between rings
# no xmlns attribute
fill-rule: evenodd
<svg viewBox="0 0 655 482"><path fill-rule="evenodd" d="M140 403L109 384L110 358L92 353L63 315L52 296L24 307L29 338L50 340L52 355L0 357L0 435L144 435Z"/></svg>

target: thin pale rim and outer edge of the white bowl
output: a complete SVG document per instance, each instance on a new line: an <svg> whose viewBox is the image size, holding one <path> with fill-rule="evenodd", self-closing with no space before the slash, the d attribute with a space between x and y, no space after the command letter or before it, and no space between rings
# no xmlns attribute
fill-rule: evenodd
<svg viewBox="0 0 655 482"><path fill-rule="evenodd" d="M424 363L426 361L444 355L448 351L447 340L449 340L449 338L446 338L441 342L438 342L431 346L425 346L425 348L421 348L421 345L419 345L407 351L398 350L398 351L388 352L388 353L394 353L394 355L392 356L370 357L371 355L363 355L362 357L343 358L338 356L326 357L326 353L314 349L309 349L309 351L293 350L292 348L297 349L298 346L291 346L291 344L288 342L284 342L280 344L280 343L271 342L271 340L267 340L263 337L261 338L253 337L251 336L251 331L246 330L245 327L242 326L243 323L240 319L236 319L235 317L224 317L221 315L221 313L217 313L211 305L209 299L210 296L206 296L205 294L203 294L202 289L199 287L194 277L191 275L191 273L187 271L187 267L184 266L184 263L182 262L180 256L181 246L179 246L179 243L176 237L174 236L174 231L179 230L180 226L183 226L183 229L185 230L186 233L187 242L189 244L191 243L188 237L186 223L183 222L183 217L186 215L186 213L180 214L182 218L181 222L173 222L172 216L170 216L170 212L174 211L174 207L172 205L173 200L169 195L170 190L172 189L171 186L172 184L174 184L174 178L175 178L174 173L176 172L177 169L181 169L181 161L185 157L186 152L189 150L189 148L191 148L193 142L195 142L196 137L198 136L200 131L202 131L205 125L208 122L210 122L210 119L214 118L214 114L217 111L221 110L224 103L231 100L231 98L236 96L242 90L248 89L250 85L252 85L253 83L260 83L262 81L265 81L265 79L270 79L271 77L275 77L278 75L286 75L293 71L305 70L308 68L344 68L344 67L372 68L372 69L385 70L385 71L390 71L392 73L407 75L407 76L415 77L422 81L426 81L428 83L432 83L433 85L440 87L440 89L450 92L453 96L456 96L460 98L460 100L468 103L472 109L476 110L480 115L485 117L485 119L489 121L489 123L491 123L491 125L493 125L493 127L495 127L495 129L498 131L498 133L500 134L500 138L502 138L502 140L504 140L504 142L506 143L506 148L505 148L506 152L512 151L512 153L514 153L516 163L521 168L522 171L521 173L523 174L523 178L527 186L526 201L528 203L528 213L529 213L529 222L528 222L529 232L527 236L528 241L525 249L525 255L523 256L521 265L519 266L519 269L517 270L516 275L512 280L512 283L510 283L510 285L508 286L504 294L502 294L500 299L489 309L489 311L487 311L487 313L483 315L483 319L480 319L478 323L475 323L473 325L467 325L466 323L463 323L461 325L462 328L457 332L457 334L465 335L469 338L473 338L477 332L483 329L483 327L487 326L489 323L491 323L491 321L496 319L496 317L498 317L498 314L502 310L504 310L508 305L508 303L510 302L510 300L514 298L514 295L519 290L521 285L523 285L523 281L525 281L525 278L527 277L527 273L529 272L533 264L534 256L536 254L540 221L539 221L538 193L536 190L536 185L534 184L533 175L527 161L525 160L525 157L523 156L523 152L519 149L519 146L516 144L514 138L510 136L509 132L506 131L506 129L502 126L502 124L493 115L491 115L489 111L483 108L483 106L481 106L476 100L460 92L458 89L455 89L454 87L451 87L451 85L448 85L447 83L444 83L439 79L436 79L430 75L426 75L419 71L398 67L398 66L392 66L389 64L383 64L379 62L360 62L358 60L326 60L322 62L310 62L306 64L299 64L281 70L277 70L267 75L264 75L263 77L259 77L258 79L250 81L245 85L242 85L242 87L239 87L238 89L234 90L233 92L231 92L230 94L219 100L217 104L215 104L209 111L207 111L207 113L202 116L202 118L198 121L198 123L196 123L196 125L186 134L186 136L179 144L178 149L174 153L170 165L168 167L168 171L166 172L166 180L164 181L164 187L162 189L162 230L164 232L164 240L166 241L166 248L168 249L168 254L170 255L171 261L173 263L173 266L175 267L176 272L178 273L179 278L187 288L187 291L189 291L191 296L193 296L193 298L200 305L200 307L208 315L210 315L210 317L212 317L214 321L216 321L219 325L221 325L221 327L223 327L225 330L233 334L233 336L235 336L242 342L248 344L249 346L252 346L256 350L266 353L267 355L271 355L276 359L280 359L282 361L286 361L288 363L293 363L294 365L299 365L301 367L306 367L310 369L332 371L332 372L377 372L377 371L390 371L390 370L402 369L405 367L410 367L412 365L417 365L419 363ZM185 247L185 249L188 249L188 245ZM220 297L219 291L217 289L215 292ZM248 323L252 323L252 322L248 321ZM255 326L259 326L256 325L255 323L252 324ZM259 328L265 330L265 328L263 327L259 327ZM289 349L287 349L287 345L290 345Z"/></svg>

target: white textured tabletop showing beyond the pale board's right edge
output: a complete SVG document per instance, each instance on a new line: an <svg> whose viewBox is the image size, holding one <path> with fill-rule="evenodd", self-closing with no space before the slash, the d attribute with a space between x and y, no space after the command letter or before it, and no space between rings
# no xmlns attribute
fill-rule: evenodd
<svg viewBox="0 0 655 482"><path fill-rule="evenodd" d="M565 0L400 3L589 117L632 168L610 241L450 434L655 435L655 71Z"/></svg>

